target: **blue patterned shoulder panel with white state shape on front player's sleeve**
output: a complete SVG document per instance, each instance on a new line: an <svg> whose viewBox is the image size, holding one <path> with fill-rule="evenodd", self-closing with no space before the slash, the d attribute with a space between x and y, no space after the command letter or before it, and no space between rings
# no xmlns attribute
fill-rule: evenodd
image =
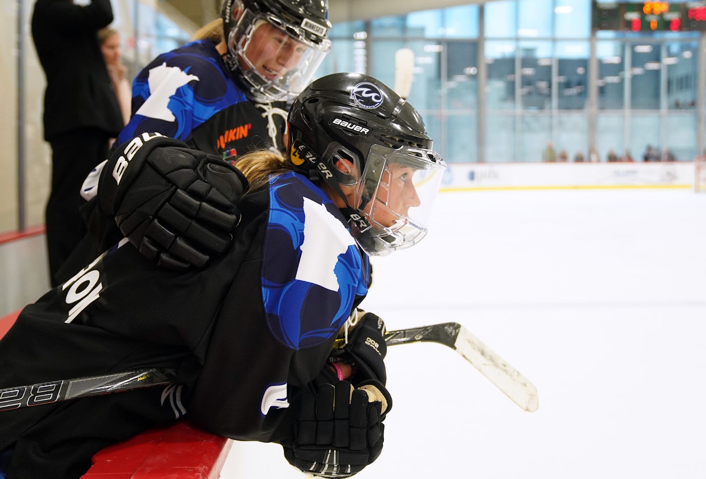
<svg viewBox="0 0 706 479"><path fill-rule="evenodd" d="M364 264L326 194L297 173L270 179L262 292L270 331L295 350L335 336L355 297L367 292Z"/></svg>

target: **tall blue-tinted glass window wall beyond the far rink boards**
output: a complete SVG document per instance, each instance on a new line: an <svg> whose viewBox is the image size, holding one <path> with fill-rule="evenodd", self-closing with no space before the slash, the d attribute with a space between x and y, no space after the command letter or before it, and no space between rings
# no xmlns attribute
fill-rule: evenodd
<svg viewBox="0 0 706 479"><path fill-rule="evenodd" d="M637 158L647 138L689 160L700 142L694 125L704 114L696 88L706 75L698 33L599 31L593 50L590 17L588 0L500 0L376 18L361 30L373 51L368 73L383 81L393 81L395 48L414 49L409 100L425 118L434 117L430 131L450 161L539 161L537 145L549 142L570 160L578 150L587 156L591 145L602 161L610 150L620 156L630 149ZM482 55L474 56L474 43ZM531 138L535 121L542 129ZM499 132L500 126L513 131ZM484 149L477 143L483 131ZM462 154L469 146L475 153Z"/></svg>

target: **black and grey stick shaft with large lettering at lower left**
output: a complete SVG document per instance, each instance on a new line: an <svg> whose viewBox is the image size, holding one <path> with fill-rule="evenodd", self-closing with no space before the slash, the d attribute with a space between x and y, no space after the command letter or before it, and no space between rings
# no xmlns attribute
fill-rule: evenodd
<svg viewBox="0 0 706 479"><path fill-rule="evenodd" d="M173 369L149 367L103 376L59 379L30 386L0 389L0 411L129 391L147 386L160 386L174 382L176 377L177 374Z"/></svg>

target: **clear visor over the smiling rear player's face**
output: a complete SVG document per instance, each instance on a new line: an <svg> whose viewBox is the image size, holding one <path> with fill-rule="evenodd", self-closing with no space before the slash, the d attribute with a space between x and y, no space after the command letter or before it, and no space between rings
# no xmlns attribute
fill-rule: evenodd
<svg viewBox="0 0 706 479"><path fill-rule="evenodd" d="M298 95L330 50L329 40L318 44L305 40L307 31L318 27L311 22L305 25L289 25L271 14L256 16L245 10L237 28L230 31L228 48L232 57L253 92L263 100Z"/></svg>

